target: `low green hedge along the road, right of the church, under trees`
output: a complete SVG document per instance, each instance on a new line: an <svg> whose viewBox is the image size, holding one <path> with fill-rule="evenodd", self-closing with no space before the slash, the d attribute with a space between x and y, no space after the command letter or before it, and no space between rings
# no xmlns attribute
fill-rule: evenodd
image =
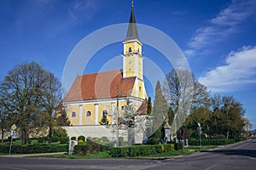
<svg viewBox="0 0 256 170"><path fill-rule="evenodd" d="M202 139L201 145L225 145L225 144L234 144L233 139ZM189 145L199 145L200 140L190 139Z"/></svg>

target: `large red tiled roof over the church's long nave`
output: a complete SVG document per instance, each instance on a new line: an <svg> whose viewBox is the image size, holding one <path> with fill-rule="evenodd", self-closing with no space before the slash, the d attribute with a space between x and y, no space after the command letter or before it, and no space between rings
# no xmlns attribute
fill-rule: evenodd
<svg viewBox="0 0 256 170"><path fill-rule="evenodd" d="M123 78L122 71L106 71L76 77L64 102L130 96L136 77Z"/></svg>

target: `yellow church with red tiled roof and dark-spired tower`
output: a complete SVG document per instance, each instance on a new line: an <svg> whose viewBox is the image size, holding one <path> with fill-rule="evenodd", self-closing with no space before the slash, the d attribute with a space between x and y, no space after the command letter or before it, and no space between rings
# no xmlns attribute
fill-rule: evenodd
<svg viewBox="0 0 256 170"><path fill-rule="evenodd" d="M127 99L140 115L146 114L143 43L137 31L133 3L123 47L122 69L80 75L74 80L62 103L71 126L100 126L103 115L114 124L116 112L119 116L124 113Z"/></svg>

